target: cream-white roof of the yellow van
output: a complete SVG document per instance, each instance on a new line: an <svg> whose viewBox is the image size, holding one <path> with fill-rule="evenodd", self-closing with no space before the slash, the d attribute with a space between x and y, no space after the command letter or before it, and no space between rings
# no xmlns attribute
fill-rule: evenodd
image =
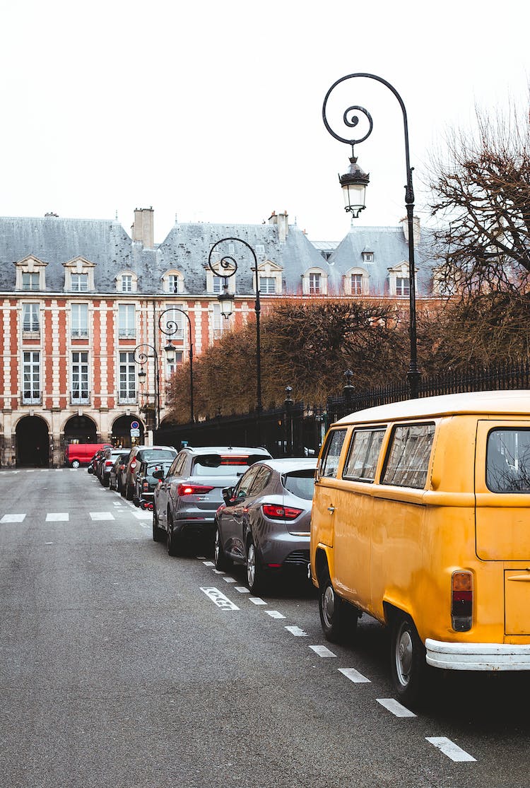
<svg viewBox="0 0 530 788"><path fill-rule="evenodd" d="M335 424L402 421L410 418L447 416L450 414L530 414L530 390L465 392L401 400L387 405L365 408L340 418Z"/></svg>

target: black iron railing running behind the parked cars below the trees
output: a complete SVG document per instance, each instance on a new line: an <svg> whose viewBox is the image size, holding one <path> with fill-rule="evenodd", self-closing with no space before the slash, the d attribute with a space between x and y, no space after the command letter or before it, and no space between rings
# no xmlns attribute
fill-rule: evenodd
<svg viewBox="0 0 530 788"><path fill-rule="evenodd" d="M506 362L490 367L469 367L465 372L451 372L422 377L420 397L472 391L498 391L503 388L530 388L530 362ZM159 444L180 448L195 446L256 446L261 444L274 457L313 455L317 453L325 430L339 418L386 403L407 400L407 383L391 383L347 395L329 396L325 405L308 406L292 403L262 411L259 432L256 412L216 416L194 424L163 426L156 432Z"/></svg>

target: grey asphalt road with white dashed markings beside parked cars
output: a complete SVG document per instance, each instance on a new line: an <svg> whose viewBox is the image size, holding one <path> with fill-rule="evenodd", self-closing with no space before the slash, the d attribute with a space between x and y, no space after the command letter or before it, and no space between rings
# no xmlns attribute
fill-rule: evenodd
<svg viewBox="0 0 530 788"><path fill-rule="evenodd" d="M170 558L84 469L0 472L0 600L2 788L528 783L528 675L436 675L399 716L382 627L327 644L311 589Z"/></svg>

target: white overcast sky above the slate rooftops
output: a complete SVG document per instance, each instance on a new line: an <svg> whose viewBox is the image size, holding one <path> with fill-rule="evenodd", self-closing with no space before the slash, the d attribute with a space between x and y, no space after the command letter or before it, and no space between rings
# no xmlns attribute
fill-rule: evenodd
<svg viewBox="0 0 530 788"><path fill-rule="evenodd" d="M287 210L311 240L350 219L324 95L372 72L406 105L417 213L421 172L451 126L528 102L528 0L0 0L0 215L112 219L153 206L178 221L261 223ZM339 98L338 98L339 101ZM402 115L386 88L349 80L365 106L365 225L405 215ZM340 132L340 128L337 128Z"/></svg>

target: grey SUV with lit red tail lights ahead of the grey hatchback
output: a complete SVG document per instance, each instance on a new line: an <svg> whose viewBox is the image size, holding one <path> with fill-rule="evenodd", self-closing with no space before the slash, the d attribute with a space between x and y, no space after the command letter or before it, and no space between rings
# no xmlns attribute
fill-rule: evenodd
<svg viewBox="0 0 530 788"><path fill-rule="evenodd" d="M191 534L213 540L215 512L221 491L259 459L270 459L265 448L239 446L187 446L173 460L168 474L154 489L153 538L164 537L170 556L179 554L183 538Z"/></svg>

